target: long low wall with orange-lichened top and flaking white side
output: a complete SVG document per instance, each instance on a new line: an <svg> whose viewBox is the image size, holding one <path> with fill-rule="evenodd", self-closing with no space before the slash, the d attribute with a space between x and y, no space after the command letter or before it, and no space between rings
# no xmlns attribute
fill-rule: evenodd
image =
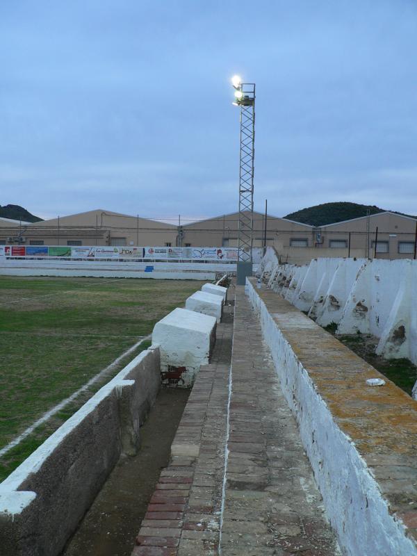
<svg viewBox="0 0 417 556"><path fill-rule="evenodd" d="M416 556L417 403L279 295L247 293L345 555Z"/></svg>

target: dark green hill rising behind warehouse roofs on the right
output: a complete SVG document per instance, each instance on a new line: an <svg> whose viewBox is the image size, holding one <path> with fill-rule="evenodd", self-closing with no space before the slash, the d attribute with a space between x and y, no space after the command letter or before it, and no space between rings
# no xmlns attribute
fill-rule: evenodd
<svg viewBox="0 0 417 556"><path fill-rule="evenodd" d="M326 224L334 224L334 222L343 222L343 220L366 216L368 208L370 214L382 213L386 210L375 205L336 202L302 208L301 211L287 214L284 218L303 224L311 224L311 226L325 226Z"/></svg>

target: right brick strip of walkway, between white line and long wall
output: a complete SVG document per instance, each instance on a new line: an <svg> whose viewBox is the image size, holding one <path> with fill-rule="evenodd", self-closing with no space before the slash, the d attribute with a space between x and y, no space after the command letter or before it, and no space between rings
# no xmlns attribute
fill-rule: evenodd
<svg viewBox="0 0 417 556"><path fill-rule="evenodd" d="M334 534L261 327L236 288L222 556L334 556Z"/></svg>

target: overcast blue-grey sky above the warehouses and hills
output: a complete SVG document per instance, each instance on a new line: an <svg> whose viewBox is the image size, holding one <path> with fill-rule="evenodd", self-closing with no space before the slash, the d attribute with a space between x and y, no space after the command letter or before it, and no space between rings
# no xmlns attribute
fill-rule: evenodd
<svg viewBox="0 0 417 556"><path fill-rule="evenodd" d="M3 1L0 70L1 205L235 211L238 73L256 209L417 214L415 0Z"/></svg>

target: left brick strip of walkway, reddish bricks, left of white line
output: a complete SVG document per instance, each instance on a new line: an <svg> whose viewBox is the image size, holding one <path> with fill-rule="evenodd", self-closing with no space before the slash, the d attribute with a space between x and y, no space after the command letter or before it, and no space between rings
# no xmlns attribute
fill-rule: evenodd
<svg viewBox="0 0 417 556"><path fill-rule="evenodd" d="M132 556L218 554L233 311L224 308L211 363L199 370Z"/></svg>

